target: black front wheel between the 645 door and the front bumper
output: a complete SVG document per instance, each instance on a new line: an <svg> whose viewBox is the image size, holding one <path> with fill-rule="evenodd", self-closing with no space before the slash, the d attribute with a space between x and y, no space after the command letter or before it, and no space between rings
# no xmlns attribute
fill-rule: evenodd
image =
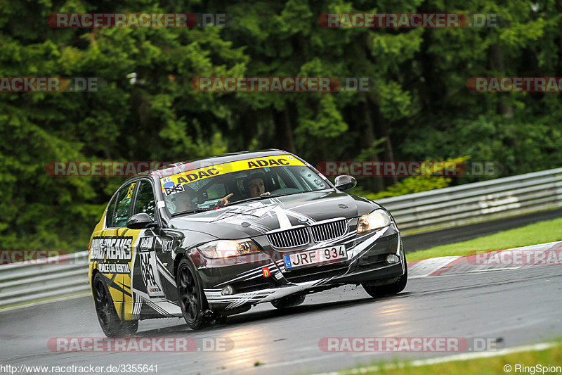
<svg viewBox="0 0 562 375"><path fill-rule="evenodd" d="M197 330L209 323L207 299L203 293L202 281L195 267L189 260L183 258L176 273L178 284L178 302L183 319L190 329Z"/></svg>

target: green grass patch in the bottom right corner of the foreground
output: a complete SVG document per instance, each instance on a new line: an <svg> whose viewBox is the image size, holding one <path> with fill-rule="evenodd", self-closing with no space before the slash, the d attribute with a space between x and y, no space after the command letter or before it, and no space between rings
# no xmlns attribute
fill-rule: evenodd
<svg viewBox="0 0 562 375"><path fill-rule="evenodd" d="M511 371L504 371L504 366L509 364ZM400 364L398 362L386 362L374 364L367 368L367 372L361 374L377 375L427 375L427 374L447 374L447 375L468 375L468 374L530 374L528 371L516 371L515 365L521 364L528 367L535 367L537 364L542 367L562 366L562 348L557 345L546 350L516 352L509 355L497 357L471 359L465 361L445 362L440 364L429 364L424 366L413 366L410 362ZM532 369L531 369L532 371ZM358 370L341 371L341 374L357 374ZM535 368L535 374L542 374ZM556 374L549 372L547 374ZM560 374L560 372L558 372Z"/></svg>

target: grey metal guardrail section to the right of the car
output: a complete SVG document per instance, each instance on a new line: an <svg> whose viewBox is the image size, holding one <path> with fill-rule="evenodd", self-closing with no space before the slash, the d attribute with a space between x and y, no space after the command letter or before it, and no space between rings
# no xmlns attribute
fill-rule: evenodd
<svg viewBox="0 0 562 375"><path fill-rule="evenodd" d="M406 232L555 208L562 206L562 168L384 198L377 203Z"/></svg>

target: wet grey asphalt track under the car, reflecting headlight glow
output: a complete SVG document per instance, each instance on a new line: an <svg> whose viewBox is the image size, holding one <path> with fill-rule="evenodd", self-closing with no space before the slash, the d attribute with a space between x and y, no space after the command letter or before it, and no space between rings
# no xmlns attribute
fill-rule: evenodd
<svg viewBox="0 0 562 375"><path fill-rule="evenodd" d="M288 312L269 303L192 332L179 319L141 322L139 337L228 341L221 352L52 352L53 337L103 336L90 297L0 313L0 363L19 366L157 364L158 374L294 374L334 371L390 358L443 353L323 352L325 337L501 338L505 347L562 336L562 267L537 266L410 279L403 293L370 298L345 286ZM455 354L455 353L447 353ZM259 366L256 366L259 364ZM149 373L150 374L150 373Z"/></svg>

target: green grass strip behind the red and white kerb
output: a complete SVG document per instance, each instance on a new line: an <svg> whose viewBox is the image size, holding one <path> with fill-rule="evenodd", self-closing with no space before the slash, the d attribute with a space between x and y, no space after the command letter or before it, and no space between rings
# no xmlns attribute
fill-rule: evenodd
<svg viewBox="0 0 562 375"><path fill-rule="evenodd" d="M448 255L469 255L469 253L485 253L488 251L517 248L537 243L562 240L562 218L537 222L526 227L500 231L490 236L479 237L470 241L436 246L426 250L414 251L406 255L407 260L444 257Z"/></svg>

